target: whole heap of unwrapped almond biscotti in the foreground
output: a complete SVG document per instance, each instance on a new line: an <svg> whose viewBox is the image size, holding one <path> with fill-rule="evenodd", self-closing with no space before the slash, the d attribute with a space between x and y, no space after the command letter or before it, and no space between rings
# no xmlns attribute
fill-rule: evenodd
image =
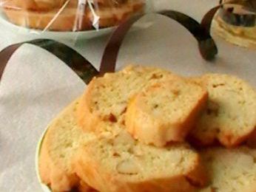
<svg viewBox="0 0 256 192"><path fill-rule="evenodd" d="M53 120L39 173L52 191L256 191L255 130L245 81L128 66Z"/></svg>

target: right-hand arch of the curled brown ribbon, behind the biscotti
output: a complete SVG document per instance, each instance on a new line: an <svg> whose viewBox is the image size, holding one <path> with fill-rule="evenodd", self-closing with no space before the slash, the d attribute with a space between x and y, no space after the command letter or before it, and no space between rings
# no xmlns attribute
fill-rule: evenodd
<svg viewBox="0 0 256 192"><path fill-rule="evenodd" d="M218 53L218 49L216 47L215 41L210 35L209 29L203 28L201 24L198 23L198 21L195 21L195 19L175 10L163 10L161 12L158 12L158 14L178 21L179 24L183 25L183 27L189 30L189 32L191 32L198 41L198 47L201 56L204 59L212 60L213 58L215 58L215 55ZM115 32L112 33L107 47L104 50L103 57L101 59L101 75L106 72L115 71L115 64L118 58L118 52L125 35L132 27L132 24L134 24L143 16L145 16L145 14L130 18L128 21L120 24Z"/></svg>

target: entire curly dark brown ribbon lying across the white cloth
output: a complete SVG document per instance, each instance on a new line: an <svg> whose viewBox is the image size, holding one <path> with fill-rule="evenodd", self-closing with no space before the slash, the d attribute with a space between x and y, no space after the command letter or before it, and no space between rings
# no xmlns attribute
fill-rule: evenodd
<svg viewBox="0 0 256 192"><path fill-rule="evenodd" d="M178 23L182 24L183 27L189 30L189 32L191 32L192 35L194 35L194 37L198 40L199 50L204 59L211 60L215 57L218 49L212 37L209 35L209 30L205 30L197 21L195 21L195 19L174 10L164 10L158 14L178 21ZM0 52L0 80L10 57L14 52L16 52L18 47L21 47L23 44L33 44L53 53L53 55L61 59L61 61L64 61L67 66L70 66L70 68L73 69L73 71L82 80L84 80L85 83L89 83L90 80L97 75L103 75L106 72L115 72L118 52L125 35L129 31L130 27L132 27L132 24L134 24L144 15L145 14L133 16L128 21L125 21L118 26L117 29L112 33L107 47L104 50L100 72L98 72L97 69L95 69L95 67L89 61L87 61L86 58L84 58L74 49L67 47L67 45L50 39L36 39L20 44L13 44Z"/></svg>

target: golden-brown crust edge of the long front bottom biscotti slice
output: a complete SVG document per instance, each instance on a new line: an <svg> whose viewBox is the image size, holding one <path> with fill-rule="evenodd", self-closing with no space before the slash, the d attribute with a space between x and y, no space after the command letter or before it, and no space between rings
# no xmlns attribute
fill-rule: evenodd
<svg viewBox="0 0 256 192"><path fill-rule="evenodd" d="M98 191L111 192L193 192L198 191L198 187L204 186L208 182L206 171L199 160L195 162L195 167L186 175L152 179L145 182L121 182L115 174L108 174L102 170L101 162L95 162L90 157L78 157L75 172Z"/></svg>

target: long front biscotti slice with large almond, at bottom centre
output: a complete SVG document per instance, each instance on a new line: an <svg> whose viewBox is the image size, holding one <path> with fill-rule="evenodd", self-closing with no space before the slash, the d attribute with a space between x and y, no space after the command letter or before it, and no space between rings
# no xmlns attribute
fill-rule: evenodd
<svg viewBox="0 0 256 192"><path fill-rule="evenodd" d="M102 192L190 192L206 184L200 157L189 145L144 145L122 130L116 137L105 132L77 153L75 171L93 188Z"/></svg>

